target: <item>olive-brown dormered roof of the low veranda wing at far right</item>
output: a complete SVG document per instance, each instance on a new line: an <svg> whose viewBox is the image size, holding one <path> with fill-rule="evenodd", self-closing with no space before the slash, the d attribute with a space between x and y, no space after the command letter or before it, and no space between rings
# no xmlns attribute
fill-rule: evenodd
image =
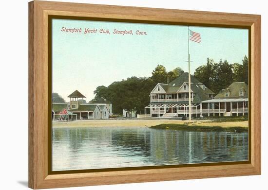
<svg viewBox="0 0 268 190"><path fill-rule="evenodd" d="M245 95L240 96L240 90L245 90ZM225 96L226 90L230 91L230 95L228 97ZM245 98L248 97L248 85L245 82L237 82L232 83L230 86L228 86L225 89L222 89L214 98Z"/></svg>

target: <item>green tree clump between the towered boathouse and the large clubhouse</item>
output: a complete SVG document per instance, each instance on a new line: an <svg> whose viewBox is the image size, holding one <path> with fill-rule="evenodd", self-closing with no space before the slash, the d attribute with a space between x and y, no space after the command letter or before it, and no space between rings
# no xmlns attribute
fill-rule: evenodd
<svg viewBox="0 0 268 190"><path fill-rule="evenodd" d="M157 83L167 83L180 76L184 71L175 68L167 72L163 65L157 65L152 76L130 77L127 80L114 82L109 86L98 86L94 91L95 98L89 103L111 103L113 113L122 114L122 110L135 110L137 113L144 113L144 106L150 103L149 95Z"/></svg>

